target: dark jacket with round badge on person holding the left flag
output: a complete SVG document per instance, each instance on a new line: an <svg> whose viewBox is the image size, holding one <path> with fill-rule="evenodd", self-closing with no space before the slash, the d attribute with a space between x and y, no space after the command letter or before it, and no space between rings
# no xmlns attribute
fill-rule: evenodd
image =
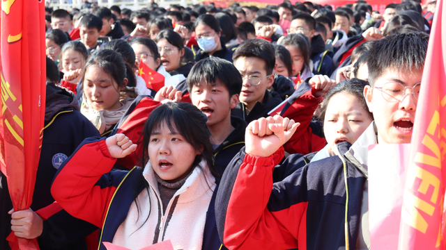
<svg viewBox="0 0 446 250"><path fill-rule="evenodd" d="M63 161L82 140L99 136L98 130L79 112L78 107L77 99L71 92L47 82L42 150L31 204L31 209L45 219L43 233L38 238L40 249L86 249L85 238L97 229L88 222L72 217L58 206L54 209L54 198L50 192L54 175ZM0 189L7 194L6 185ZM3 197L1 199L3 203ZM10 217L1 220L2 228L3 223L10 232ZM2 244L0 249L3 249Z"/></svg>

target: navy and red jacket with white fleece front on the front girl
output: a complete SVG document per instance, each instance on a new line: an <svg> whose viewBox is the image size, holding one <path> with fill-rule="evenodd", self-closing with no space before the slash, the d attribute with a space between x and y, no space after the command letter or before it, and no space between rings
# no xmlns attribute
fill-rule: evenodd
<svg viewBox="0 0 446 250"><path fill-rule="evenodd" d="M95 157L86 157L92 155ZM113 242L115 239L119 242L115 233L128 217L135 195L145 189L146 185L138 185L141 181L143 184L144 181L148 181L148 192L151 192L151 216L146 226L153 228L153 232L147 234L151 235L153 244L170 239L176 245L175 232L183 231L194 235L195 238L191 236L191 240L197 239L197 234L203 234L202 245L194 244L194 246L199 245L194 249L217 250L221 247L212 209L215 199L213 191L217 190L212 176L207 179L208 185L206 181L203 184L200 177L203 174L199 174L199 168L194 169L194 173L189 177L192 181L188 183L188 178L183 187L176 192L163 216L160 212L162 205L160 205L159 192L157 193L157 188L154 188L157 184L154 183L153 176L143 173L140 167L134 167L130 172L119 170L109 172L115 162L116 158L110 156L104 138L88 138L59 169L52 185L54 199L70 215L102 228L99 249L105 250L102 242ZM149 166L146 171L150 168ZM143 179L143 174L146 180ZM209 174L206 173L206 175ZM202 192L196 192L197 190L202 190ZM197 197L197 194L200 195ZM205 213L206 210L207 213ZM201 211L198 213L201 219L195 222L199 221L201 224L185 219L187 216L196 217L197 211ZM185 219L187 224L178 219Z"/></svg>

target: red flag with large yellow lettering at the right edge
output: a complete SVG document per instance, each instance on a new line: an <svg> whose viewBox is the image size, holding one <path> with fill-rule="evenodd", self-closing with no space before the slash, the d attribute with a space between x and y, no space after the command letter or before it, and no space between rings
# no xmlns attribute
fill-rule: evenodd
<svg viewBox="0 0 446 250"><path fill-rule="evenodd" d="M399 249L444 249L446 174L446 18L437 1L403 194ZM446 10L445 10L446 11Z"/></svg>

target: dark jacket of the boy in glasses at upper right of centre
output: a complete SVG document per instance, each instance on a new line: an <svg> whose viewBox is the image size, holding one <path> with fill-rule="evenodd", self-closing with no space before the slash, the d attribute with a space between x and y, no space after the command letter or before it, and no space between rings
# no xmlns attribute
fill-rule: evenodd
<svg viewBox="0 0 446 250"><path fill-rule="evenodd" d="M330 76L332 74L332 53L325 49L325 42L321 35L312 38L313 74Z"/></svg>

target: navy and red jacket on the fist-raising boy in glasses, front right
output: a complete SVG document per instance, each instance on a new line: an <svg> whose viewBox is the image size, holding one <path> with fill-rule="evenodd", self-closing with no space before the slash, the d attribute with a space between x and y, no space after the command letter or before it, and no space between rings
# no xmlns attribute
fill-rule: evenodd
<svg viewBox="0 0 446 250"><path fill-rule="evenodd" d="M267 158L242 149L226 168L215 202L224 245L355 249L367 169L351 157L350 146L338 144L341 157L309 163L278 183L273 183L272 171L284 156L282 147Z"/></svg>

